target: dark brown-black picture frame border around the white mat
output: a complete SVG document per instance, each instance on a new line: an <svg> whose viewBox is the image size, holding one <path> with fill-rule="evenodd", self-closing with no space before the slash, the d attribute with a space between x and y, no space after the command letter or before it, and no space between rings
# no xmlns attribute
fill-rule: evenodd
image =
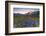
<svg viewBox="0 0 46 36"><path fill-rule="evenodd" d="M9 33L8 28L8 3L29 3L29 4L42 4L43 5L43 31L36 32L23 32L23 33ZM45 32L45 3L38 2L24 2L24 1L5 1L5 35L17 35L17 34L32 34L32 33L44 33Z"/></svg>

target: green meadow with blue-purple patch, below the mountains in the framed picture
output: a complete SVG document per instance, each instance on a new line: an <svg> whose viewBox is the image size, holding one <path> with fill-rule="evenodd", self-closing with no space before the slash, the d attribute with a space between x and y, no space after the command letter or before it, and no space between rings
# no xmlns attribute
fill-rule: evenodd
<svg viewBox="0 0 46 36"><path fill-rule="evenodd" d="M36 24L35 21L38 21ZM38 27L39 18L31 16L14 16L14 27Z"/></svg>

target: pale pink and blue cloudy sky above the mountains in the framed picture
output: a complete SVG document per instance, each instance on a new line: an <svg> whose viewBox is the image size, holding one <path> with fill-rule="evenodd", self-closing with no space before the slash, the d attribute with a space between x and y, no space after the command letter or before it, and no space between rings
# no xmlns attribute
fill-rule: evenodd
<svg viewBox="0 0 46 36"><path fill-rule="evenodd" d="M38 8L13 8L13 13L26 14L28 12L39 11Z"/></svg>

